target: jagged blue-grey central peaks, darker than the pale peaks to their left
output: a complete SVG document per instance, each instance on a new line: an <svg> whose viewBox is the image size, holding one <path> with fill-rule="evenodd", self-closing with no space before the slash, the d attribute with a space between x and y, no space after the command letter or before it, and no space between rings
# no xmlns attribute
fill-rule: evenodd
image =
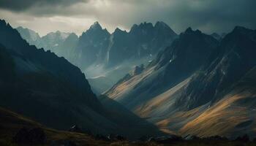
<svg viewBox="0 0 256 146"><path fill-rule="evenodd" d="M129 32L116 28L113 34L94 23L83 33L75 53L81 69L91 64L116 66L129 59L150 57L164 49L177 37L165 23L140 23L132 26Z"/></svg>

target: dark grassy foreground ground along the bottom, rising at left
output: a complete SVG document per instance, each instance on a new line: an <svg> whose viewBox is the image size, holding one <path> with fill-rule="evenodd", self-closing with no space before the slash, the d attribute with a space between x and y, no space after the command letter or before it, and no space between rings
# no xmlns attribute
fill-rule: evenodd
<svg viewBox="0 0 256 146"><path fill-rule="evenodd" d="M47 128L41 124L24 118L22 115L18 115L15 112L0 108L0 145L28 145L14 142L13 137L20 131L21 128L41 128L45 132L46 142L40 145L256 145L254 142L233 142L233 141L211 141L207 139L199 139L193 141L181 141L181 142L167 142L166 144L160 144L156 142L128 142L128 141L107 141L102 139L96 139L89 134L82 134L71 131L59 131L52 128Z"/></svg>

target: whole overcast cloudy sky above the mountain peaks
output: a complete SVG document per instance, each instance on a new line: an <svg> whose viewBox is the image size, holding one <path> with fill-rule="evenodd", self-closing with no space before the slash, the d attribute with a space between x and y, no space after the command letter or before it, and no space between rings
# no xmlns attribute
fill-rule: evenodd
<svg viewBox="0 0 256 146"><path fill-rule="evenodd" d="M111 32L158 20L177 33L191 26L210 34L234 26L255 29L256 0L0 0L0 18L41 36L57 30L81 34L95 21Z"/></svg>

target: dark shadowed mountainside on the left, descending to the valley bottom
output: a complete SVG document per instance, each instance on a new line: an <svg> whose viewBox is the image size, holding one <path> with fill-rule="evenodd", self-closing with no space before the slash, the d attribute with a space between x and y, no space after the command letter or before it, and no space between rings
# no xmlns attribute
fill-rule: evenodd
<svg viewBox="0 0 256 146"><path fill-rule="evenodd" d="M121 107L113 114L115 108L102 105L78 67L29 45L4 20L0 32L0 107L61 130L78 125L94 134L129 138L162 134Z"/></svg>

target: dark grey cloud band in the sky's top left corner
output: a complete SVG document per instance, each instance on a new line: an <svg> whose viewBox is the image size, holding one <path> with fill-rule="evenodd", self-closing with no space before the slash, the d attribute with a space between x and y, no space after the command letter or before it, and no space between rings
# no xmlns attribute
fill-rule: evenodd
<svg viewBox="0 0 256 146"><path fill-rule="evenodd" d="M0 8L20 12L31 7L69 6L84 0L0 0Z"/></svg>

